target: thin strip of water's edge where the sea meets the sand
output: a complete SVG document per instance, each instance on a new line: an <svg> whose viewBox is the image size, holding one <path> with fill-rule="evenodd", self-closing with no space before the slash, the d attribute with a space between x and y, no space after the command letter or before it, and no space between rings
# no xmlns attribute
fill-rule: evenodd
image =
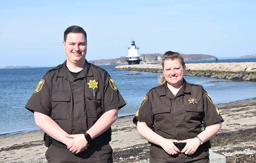
<svg viewBox="0 0 256 163"><path fill-rule="evenodd" d="M254 99L256 99L256 97L252 97L252 98L248 98L248 99L244 99L244 100L236 100L236 101L231 101L231 102L216 103L216 105L228 104L228 103L234 103L234 102L242 102L242 101L254 100ZM134 116L134 114L118 116L117 119L130 118L130 117L133 117L133 116ZM0 134L0 137L12 136L12 135L23 134L23 133L29 133L29 132L34 132L34 131L41 131L41 129L28 129L28 130L22 130L22 131L13 131L13 132L9 132L9 133Z"/></svg>

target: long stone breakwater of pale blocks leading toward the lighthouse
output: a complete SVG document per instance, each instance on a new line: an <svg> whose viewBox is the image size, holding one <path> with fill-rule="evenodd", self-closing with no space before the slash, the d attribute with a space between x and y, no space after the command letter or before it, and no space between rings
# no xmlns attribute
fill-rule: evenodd
<svg viewBox="0 0 256 163"><path fill-rule="evenodd" d="M114 70L162 73L162 65L120 65ZM256 62L188 63L185 76L213 77L229 80L256 81Z"/></svg>

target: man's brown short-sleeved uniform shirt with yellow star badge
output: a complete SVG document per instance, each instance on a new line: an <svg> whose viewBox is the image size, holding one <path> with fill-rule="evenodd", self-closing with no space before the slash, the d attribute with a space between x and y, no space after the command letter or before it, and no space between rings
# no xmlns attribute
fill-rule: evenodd
<svg viewBox="0 0 256 163"><path fill-rule="evenodd" d="M84 69L74 78L65 61L46 72L25 108L50 116L68 134L80 134L92 127L104 112L125 105L104 69L86 61Z"/></svg>

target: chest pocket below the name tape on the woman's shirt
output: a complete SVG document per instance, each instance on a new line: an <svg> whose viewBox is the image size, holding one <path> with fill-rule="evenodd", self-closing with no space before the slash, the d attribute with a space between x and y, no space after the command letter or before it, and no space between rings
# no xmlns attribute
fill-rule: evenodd
<svg viewBox="0 0 256 163"><path fill-rule="evenodd" d="M174 127L171 106L153 106L154 126L160 130L170 130Z"/></svg>

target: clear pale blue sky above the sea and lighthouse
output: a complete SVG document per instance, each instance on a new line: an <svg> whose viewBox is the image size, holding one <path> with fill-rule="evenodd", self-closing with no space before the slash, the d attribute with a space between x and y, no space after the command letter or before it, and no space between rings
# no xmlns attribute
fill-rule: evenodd
<svg viewBox="0 0 256 163"><path fill-rule="evenodd" d="M175 51L256 54L256 1L1 1L0 67L54 66L66 59L63 32L88 35L87 60Z"/></svg>

